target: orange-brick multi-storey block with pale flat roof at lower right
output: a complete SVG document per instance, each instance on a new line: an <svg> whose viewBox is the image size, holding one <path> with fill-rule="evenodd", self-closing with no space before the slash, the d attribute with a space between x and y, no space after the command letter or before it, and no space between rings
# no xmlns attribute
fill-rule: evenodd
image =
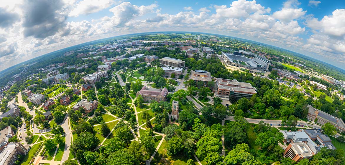
<svg viewBox="0 0 345 165"><path fill-rule="evenodd" d="M311 158L314 153L309 146L303 142L291 142L284 151L284 157L289 157L293 161Z"/></svg>

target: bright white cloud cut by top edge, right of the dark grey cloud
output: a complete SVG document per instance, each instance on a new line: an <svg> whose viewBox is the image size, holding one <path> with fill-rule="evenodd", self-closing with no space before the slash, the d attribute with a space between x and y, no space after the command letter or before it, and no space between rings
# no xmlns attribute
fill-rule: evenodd
<svg viewBox="0 0 345 165"><path fill-rule="evenodd" d="M109 8L114 4L114 0L82 0L69 13L70 17L87 15Z"/></svg>

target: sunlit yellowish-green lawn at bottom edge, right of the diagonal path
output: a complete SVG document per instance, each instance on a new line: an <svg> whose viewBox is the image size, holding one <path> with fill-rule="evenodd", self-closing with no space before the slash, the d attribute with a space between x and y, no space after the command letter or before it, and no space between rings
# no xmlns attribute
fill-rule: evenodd
<svg viewBox="0 0 345 165"><path fill-rule="evenodd" d="M158 142L159 143L159 142ZM181 156L168 156L167 155L167 141L163 141L159 147L155 157L151 161L151 165L160 165L160 164L171 164L171 165L186 165L189 159L192 159L195 165L198 165L198 162L195 160L194 156L191 156L189 159L186 158L183 154Z"/></svg>

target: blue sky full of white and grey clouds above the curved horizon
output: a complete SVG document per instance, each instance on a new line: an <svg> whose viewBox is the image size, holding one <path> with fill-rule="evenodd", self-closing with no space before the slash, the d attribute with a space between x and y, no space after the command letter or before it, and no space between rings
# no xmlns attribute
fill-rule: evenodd
<svg viewBox="0 0 345 165"><path fill-rule="evenodd" d="M0 71L72 45L156 31L239 37L345 69L344 0L10 0L0 3Z"/></svg>

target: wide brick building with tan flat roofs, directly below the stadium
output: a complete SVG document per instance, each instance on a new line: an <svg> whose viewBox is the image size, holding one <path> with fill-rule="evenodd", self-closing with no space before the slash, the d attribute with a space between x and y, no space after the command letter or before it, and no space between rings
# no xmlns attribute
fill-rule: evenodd
<svg viewBox="0 0 345 165"><path fill-rule="evenodd" d="M257 92L250 83L238 82L237 80L216 78L213 91L217 97L229 98L230 95L250 98Z"/></svg>

